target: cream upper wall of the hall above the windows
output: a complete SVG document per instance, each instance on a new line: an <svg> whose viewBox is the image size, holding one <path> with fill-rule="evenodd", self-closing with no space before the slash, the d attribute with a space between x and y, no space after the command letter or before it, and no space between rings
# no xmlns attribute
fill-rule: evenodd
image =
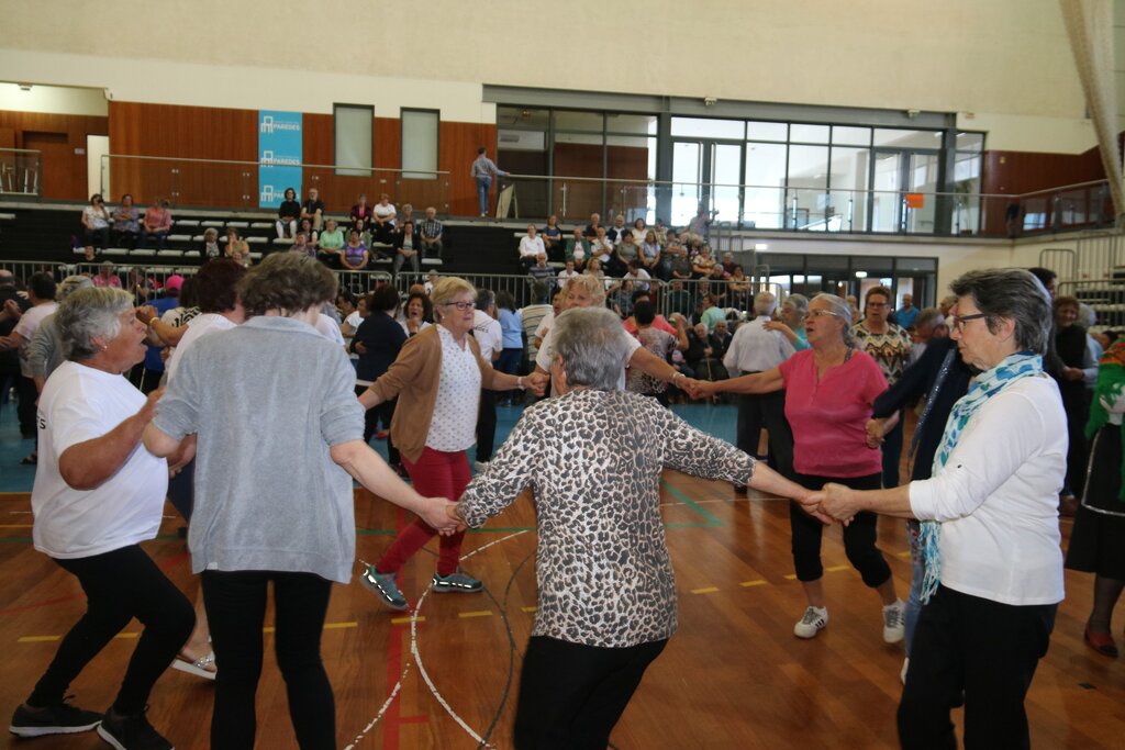
<svg viewBox="0 0 1125 750"><path fill-rule="evenodd" d="M380 3L380 16L423 22L424 43L399 24L379 24L348 54L313 55L312 62L278 54L276 42L291 37L292 19L308 16L296 0L276 0L270 13L230 0L154 4L137 13L125 0L105 0L99 16L115 19L114 35L92 33L100 21L78 0L56 0L50 13L35 3L9 6L0 40L6 79L105 87L117 101L320 114L340 101L374 103L379 117L439 102L442 119L493 124L495 108L480 102L487 82L961 112L990 123L996 148L1094 145L1078 143L1084 102L1056 0L903 0L893 7L807 0L800 9L775 0L696 0L691 12L674 0L572 0L566 12L582 22L583 46L600 52L567 55L565 65L558 55L522 49L518 33L504 31L519 28L520 19L555 17L557 7L547 0L432 0L421 9L390 0ZM316 8L317 17L344 26L354 12L350 0ZM70 22L58 24L60 17ZM253 34L238 44L200 44L215 37L215 18ZM620 44L622 29L640 31L658 19L675 26L645 34L642 52ZM706 39L708 54L684 64L685 39Z"/></svg>

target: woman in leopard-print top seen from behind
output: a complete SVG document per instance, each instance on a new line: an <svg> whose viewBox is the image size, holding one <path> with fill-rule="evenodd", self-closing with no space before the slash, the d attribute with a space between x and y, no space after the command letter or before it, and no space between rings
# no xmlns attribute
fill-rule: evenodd
<svg viewBox="0 0 1125 750"><path fill-rule="evenodd" d="M613 313L572 309L551 333L559 397L524 412L454 513L479 526L536 488L539 607L515 747L601 749L676 630L662 470L793 498L809 493L655 400L619 390L627 349Z"/></svg>

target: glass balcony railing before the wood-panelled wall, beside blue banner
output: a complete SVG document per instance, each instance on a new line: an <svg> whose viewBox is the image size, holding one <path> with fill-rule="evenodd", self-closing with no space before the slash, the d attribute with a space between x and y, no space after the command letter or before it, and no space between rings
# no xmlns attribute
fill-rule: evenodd
<svg viewBox="0 0 1125 750"><path fill-rule="evenodd" d="M142 204L166 198L173 207L258 210L274 205L279 196L259 189L260 166L267 162L176 159L105 154L101 157L101 192L107 197L133 195ZM289 165L287 165L289 166ZM303 193L317 188L325 210L346 214L360 193L374 206L379 195L394 198L396 207L411 204L421 216L428 206L449 213L449 172L418 172L389 169L336 168L333 164L294 164L300 170L291 186ZM361 174L357 174L360 172ZM284 189L282 189L284 190ZM272 209L264 209L272 210Z"/></svg>

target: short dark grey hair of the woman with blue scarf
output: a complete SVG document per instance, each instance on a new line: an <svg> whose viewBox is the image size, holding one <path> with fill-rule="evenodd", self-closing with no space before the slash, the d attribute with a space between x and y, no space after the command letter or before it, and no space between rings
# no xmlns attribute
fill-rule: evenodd
<svg viewBox="0 0 1125 750"><path fill-rule="evenodd" d="M1054 323L1051 296L1043 282L1024 269L988 269L970 271L950 284L957 297L972 297L990 333L996 333L998 318L1016 324L1016 345L1036 354L1047 351L1047 340Z"/></svg>

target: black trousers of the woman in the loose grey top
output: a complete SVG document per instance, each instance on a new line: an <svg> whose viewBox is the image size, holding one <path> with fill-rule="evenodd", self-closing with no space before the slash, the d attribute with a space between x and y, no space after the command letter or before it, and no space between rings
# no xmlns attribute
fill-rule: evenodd
<svg viewBox="0 0 1125 750"><path fill-rule="evenodd" d="M204 605L215 663L212 748L254 747L254 694L262 674L262 624L273 582L274 647L285 678L289 716L300 748L336 747L332 685L321 661L321 632L332 582L313 573L270 570L202 573Z"/></svg>

